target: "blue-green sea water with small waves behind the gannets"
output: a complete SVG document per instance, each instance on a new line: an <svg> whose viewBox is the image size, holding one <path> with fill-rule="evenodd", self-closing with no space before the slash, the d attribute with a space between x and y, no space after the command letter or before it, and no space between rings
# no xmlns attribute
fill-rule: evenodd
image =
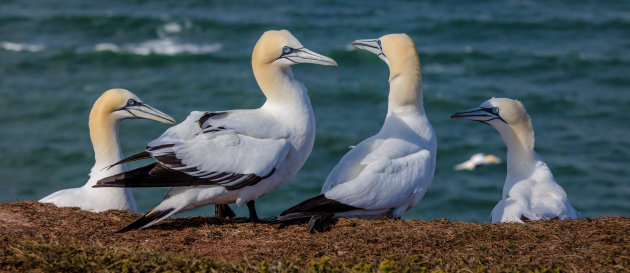
<svg viewBox="0 0 630 273"><path fill-rule="evenodd" d="M0 201L37 200L88 179L88 113L107 89L127 88L180 121L192 110L258 107L252 47L265 30L286 28L339 67L294 66L317 138L298 175L259 199L261 215L317 194L347 147L378 131L387 66L348 45L405 32L420 52L438 135L433 184L406 218L488 218L505 164L452 166L477 152L505 158L505 146L489 126L448 117L492 96L523 101L536 150L582 216L630 216L628 1L181 2L0 2ZM123 122L125 154L166 128ZM164 192L134 190L139 211Z"/></svg>

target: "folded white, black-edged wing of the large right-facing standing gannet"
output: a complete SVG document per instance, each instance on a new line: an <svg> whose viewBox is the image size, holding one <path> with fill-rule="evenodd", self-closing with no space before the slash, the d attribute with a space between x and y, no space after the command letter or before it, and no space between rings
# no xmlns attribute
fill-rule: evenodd
<svg viewBox="0 0 630 273"><path fill-rule="evenodd" d="M219 116L217 125L211 119ZM145 152L157 163L102 179L98 186L216 185L236 190L272 175L289 151L287 139L251 136L243 124L230 128L230 120L234 118L228 112L193 112L147 145Z"/></svg>

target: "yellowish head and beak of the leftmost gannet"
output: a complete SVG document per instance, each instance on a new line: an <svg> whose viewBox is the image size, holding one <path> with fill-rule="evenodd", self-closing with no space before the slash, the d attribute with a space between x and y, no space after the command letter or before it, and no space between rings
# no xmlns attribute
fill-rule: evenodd
<svg viewBox="0 0 630 273"><path fill-rule="evenodd" d="M116 121L143 118L162 123L175 124L175 119L142 102L138 96L125 89L110 89L101 95L90 112L90 120L109 116Z"/></svg>

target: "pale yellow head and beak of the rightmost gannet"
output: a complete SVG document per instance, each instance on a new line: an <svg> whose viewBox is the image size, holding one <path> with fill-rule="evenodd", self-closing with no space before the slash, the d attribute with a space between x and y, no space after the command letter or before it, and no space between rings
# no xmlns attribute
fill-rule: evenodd
<svg viewBox="0 0 630 273"><path fill-rule="evenodd" d="M502 136L516 135L526 148L534 147L534 129L525 107L518 100L491 98L479 107L457 112L453 119L476 120L488 124ZM504 137L505 140L505 137Z"/></svg>

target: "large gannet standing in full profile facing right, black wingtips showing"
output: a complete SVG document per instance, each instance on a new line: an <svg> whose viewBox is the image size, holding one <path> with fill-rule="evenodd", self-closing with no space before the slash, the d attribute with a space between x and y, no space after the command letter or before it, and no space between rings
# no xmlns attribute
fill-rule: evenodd
<svg viewBox="0 0 630 273"><path fill-rule="evenodd" d="M151 141L145 152L122 160L153 157L157 163L102 179L96 187L172 187L162 203L125 232L151 226L177 212L219 204L247 204L290 180L311 153L315 117L306 88L291 65L337 63L306 49L287 30L267 31L252 53L254 77L266 102L257 109L192 112Z"/></svg>

